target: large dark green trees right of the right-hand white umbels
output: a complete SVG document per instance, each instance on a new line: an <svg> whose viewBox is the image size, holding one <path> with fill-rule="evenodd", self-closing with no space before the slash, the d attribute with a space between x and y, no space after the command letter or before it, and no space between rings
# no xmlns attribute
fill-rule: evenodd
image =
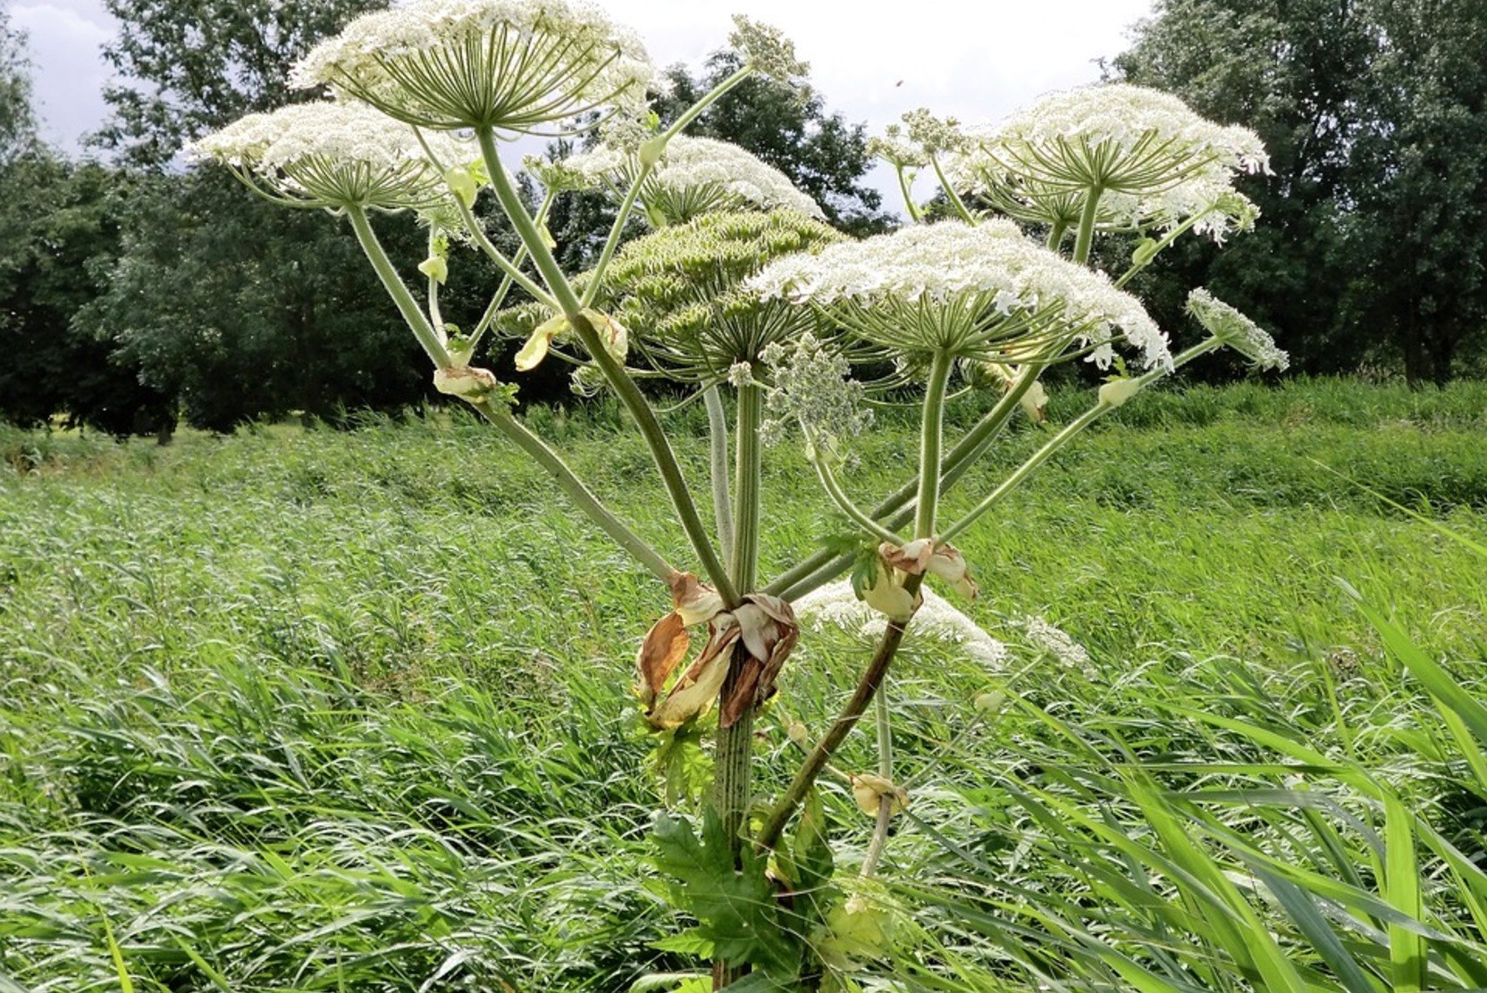
<svg viewBox="0 0 1487 993"><path fill-rule="evenodd" d="M1158 0L1111 76L1254 128L1273 169L1240 183L1254 233L1144 276L1158 320L1203 282L1309 372L1448 378L1487 323L1484 25L1481 0Z"/></svg>

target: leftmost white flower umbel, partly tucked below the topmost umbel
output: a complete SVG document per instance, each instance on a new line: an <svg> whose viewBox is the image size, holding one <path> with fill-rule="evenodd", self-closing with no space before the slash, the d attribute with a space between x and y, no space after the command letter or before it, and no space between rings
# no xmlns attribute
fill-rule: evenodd
<svg viewBox="0 0 1487 993"><path fill-rule="evenodd" d="M480 158L473 144L431 135L446 162ZM449 199L407 125L358 103L318 101L248 114L189 149L293 207L433 210Z"/></svg>

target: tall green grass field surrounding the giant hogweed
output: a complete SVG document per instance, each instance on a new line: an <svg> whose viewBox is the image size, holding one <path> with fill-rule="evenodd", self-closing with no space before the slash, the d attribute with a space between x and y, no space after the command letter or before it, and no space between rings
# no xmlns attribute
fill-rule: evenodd
<svg viewBox="0 0 1487 993"><path fill-rule="evenodd" d="M529 421L687 562L613 410ZM699 412L674 424L700 485ZM1005 441L999 462L1038 436ZM885 416L861 502L913 446ZM666 590L464 412L167 449L0 431L0 993L693 968L654 948L678 925L629 690ZM767 577L843 523L799 453L766 485ZM920 641L895 670L894 926L848 989L1487 986L1472 543L1484 385L1133 401L961 543L962 607L1007 663ZM782 715L819 727L865 645L807 626L761 721L766 788L793 769ZM873 763L859 731L837 764ZM851 871L871 824L824 794Z"/></svg>

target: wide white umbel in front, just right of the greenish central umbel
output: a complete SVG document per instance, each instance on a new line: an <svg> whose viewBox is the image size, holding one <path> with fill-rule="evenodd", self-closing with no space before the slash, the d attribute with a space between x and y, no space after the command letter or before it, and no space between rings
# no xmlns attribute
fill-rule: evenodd
<svg viewBox="0 0 1487 993"><path fill-rule="evenodd" d="M1166 334L1136 297L1103 274L1035 245L1011 221L904 227L772 263L748 285L764 299L821 308L851 333L897 355L1029 363L1112 345L1146 366L1170 363Z"/></svg>

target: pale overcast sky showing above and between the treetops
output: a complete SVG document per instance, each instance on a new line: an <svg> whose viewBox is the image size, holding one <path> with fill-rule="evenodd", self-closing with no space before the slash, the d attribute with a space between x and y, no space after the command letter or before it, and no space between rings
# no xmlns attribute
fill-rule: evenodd
<svg viewBox="0 0 1487 993"><path fill-rule="evenodd" d="M4 3L4 0L0 0ZM739 10L775 24L810 62L825 106L870 132L929 107L962 120L998 120L1050 89L1099 77L1096 59L1126 46L1151 0L607 0L660 65L699 65L721 48ZM103 120L109 70L98 55L114 31L97 0L10 0L30 34L45 135L74 150ZM892 199L888 201L889 205Z"/></svg>

